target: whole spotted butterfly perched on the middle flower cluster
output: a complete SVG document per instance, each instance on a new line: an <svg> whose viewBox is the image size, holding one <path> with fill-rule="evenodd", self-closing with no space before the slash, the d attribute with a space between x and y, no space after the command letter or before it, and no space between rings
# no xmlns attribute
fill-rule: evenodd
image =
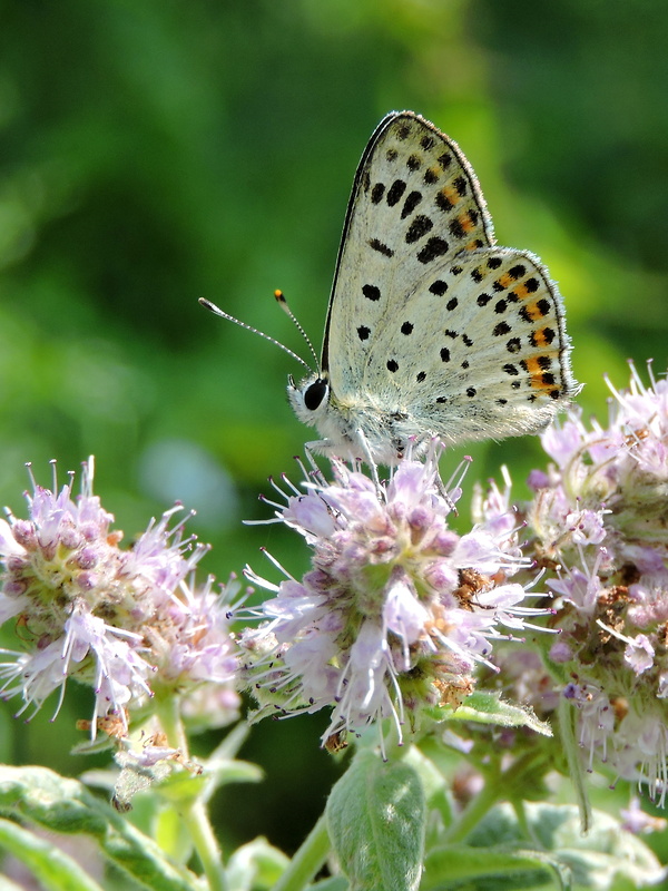
<svg viewBox="0 0 668 891"><path fill-rule="evenodd" d="M456 143L389 114L355 174L320 366L288 379L321 437L307 448L392 466L434 437L538 432L578 391L569 353L557 285L530 252L495 246Z"/></svg>

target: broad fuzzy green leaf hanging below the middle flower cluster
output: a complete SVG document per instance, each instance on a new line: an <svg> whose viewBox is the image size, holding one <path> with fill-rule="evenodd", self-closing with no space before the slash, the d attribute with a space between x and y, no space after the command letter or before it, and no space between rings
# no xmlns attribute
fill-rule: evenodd
<svg viewBox="0 0 668 891"><path fill-rule="evenodd" d="M326 817L351 891L418 888L426 807L412 766L360 752L332 790Z"/></svg>

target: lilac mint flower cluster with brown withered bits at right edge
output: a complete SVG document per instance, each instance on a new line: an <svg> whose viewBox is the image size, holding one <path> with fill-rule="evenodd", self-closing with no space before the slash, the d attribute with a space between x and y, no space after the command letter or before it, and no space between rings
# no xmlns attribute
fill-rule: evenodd
<svg viewBox="0 0 668 891"><path fill-rule="evenodd" d="M668 793L668 382L631 366L607 427L577 412L542 435L524 552L560 567L549 657L579 712L588 766L607 763L662 806Z"/></svg>

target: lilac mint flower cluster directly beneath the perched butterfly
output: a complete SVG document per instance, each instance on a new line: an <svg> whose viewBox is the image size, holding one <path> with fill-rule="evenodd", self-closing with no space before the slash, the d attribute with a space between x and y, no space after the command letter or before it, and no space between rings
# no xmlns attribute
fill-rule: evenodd
<svg viewBox="0 0 668 891"><path fill-rule="evenodd" d="M446 496L438 476L441 448L424 462L402 461L376 483L341 461L334 481L321 474L307 493L291 487L276 521L312 550L310 571L272 585L266 621L242 635L243 677L258 701L256 717L332 707L326 744L391 717L399 741L407 719L456 708L490 664L492 642L525 627L524 565L512 513L459 536L448 526L460 490ZM289 484L289 483L288 483ZM278 565L277 565L278 566Z"/></svg>

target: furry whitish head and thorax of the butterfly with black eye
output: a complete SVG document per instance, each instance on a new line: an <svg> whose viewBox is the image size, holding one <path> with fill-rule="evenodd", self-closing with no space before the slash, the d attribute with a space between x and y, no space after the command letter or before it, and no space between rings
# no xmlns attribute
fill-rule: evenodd
<svg viewBox="0 0 668 891"><path fill-rule="evenodd" d="M347 394L337 398L328 375L312 374L299 384L291 379L287 395L297 418L315 427L322 439L308 447L321 454L345 460L360 459L376 464L393 466L404 456L409 443L413 454L420 451L415 437L415 422L401 405L379 404L371 393ZM431 434L424 432L420 442Z"/></svg>

